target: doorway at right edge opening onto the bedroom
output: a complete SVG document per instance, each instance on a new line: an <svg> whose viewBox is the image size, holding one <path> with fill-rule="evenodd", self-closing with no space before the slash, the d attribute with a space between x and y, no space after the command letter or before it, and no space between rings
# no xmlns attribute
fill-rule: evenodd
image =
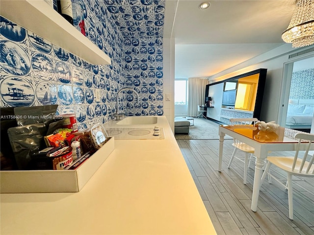
<svg viewBox="0 0 314 235"><path fill-rule="evenodd" d="M313 54L284 64L281 94L278 123L314 133Z"/></svg>

